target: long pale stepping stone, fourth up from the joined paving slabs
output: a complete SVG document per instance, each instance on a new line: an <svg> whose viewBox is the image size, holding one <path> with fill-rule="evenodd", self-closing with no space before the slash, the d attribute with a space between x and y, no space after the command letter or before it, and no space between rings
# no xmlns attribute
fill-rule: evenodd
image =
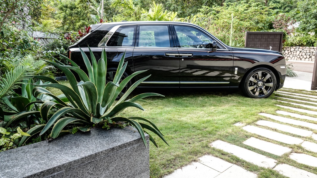
<svg viewBox="0 0 317 178"><path fill-rule="evenodd" d="M262 113L260 115L262 115ZM270 128L275 128L280 131L293 133L303 137L309 137L313 134L312 131L308 131L308 130L304 130L304 129L300 129L296 127L291 127L291 126L286 126L283 124L278 124L278 123L267 121L267 120L259 120L256 122L256 124L260 126L268 126Z"/></svg>

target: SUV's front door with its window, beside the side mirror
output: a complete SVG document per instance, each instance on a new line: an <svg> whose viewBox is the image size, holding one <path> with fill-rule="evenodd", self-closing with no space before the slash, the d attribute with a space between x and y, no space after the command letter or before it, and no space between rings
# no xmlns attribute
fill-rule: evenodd
<svg viewBox="0 0 317 178"><path fill-rule="evenodd" d="M172 26L180 58L180 87L229 87L233 54L217 42L217 51L205 48L214 39L194 26Z"/></svg>

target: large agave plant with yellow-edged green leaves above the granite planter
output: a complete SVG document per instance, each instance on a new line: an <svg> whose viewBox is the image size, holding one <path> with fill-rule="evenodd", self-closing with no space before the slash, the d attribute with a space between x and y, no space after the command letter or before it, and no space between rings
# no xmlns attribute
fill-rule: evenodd
<svg viewBox="0 0 317 178"><path fill-rule="evenodd" d="M126 93L121 96L120 100L115 102L117 96L120 94L122 89L124 89L126 84L130 80L132 80L133 77L145 71L134 72L119 83L127 66L127 63L124 64L125 54L123 54L113 82L106 83L106 51L102 51L101 59L99 59L97 63L94 54L89 48L92 64L90 64L87 55L85 54L85 52L82 51L81 48L80 51L88 70L88 76L78 67L76 63L65 56L62 57L67 59L69 63L72 64L72 66L47 61L49 64L54 65L56 68L59 68L61 71L64 72L64 74L68 78L71 87L62 85L53 79L49 79L48 77L42 77L42 79L47 78L48 80L50 80L51 83L36 85L37 87L33 89L33 95L35 97L41 96L43 94L49 95L53 97L55 101L46 101L40 107L39 113L41 114L43 120L47 120L47 123L45 125L33 127L33 130L31 129L32 131L29 131L27 133L32 136L38 133L39 130L42 130L40 132L40 135L46 132L50 132L50 137L57 138L65 132L72 132L73 128L77 128L81 131L86 132L89 131L90 128L93 126L108 126L112 123L123 122L134 126L138 130L145 145L146 140L144 133L148 133L148 131L151 131L154 134L158 135L167 144L163 137L163 134L150 120L142 117L117 117L117 115L127 107L136 107L138 109L144 110L143 107L137 103L137 101L144 101L143 98L145 97L163 96L156 93L144 93L126 100L127 96L133 91L133 89L135 89L141 82L143 82L150 76L136 81L126 91ZM74 71L79 75L81 79L79 83L76 82L74 74L71 71ZM61 96L53 95L47 89L44 89L42 87L52 87L60 89L67 100L65 100L65 98L64 100L61 99ZM49 113L56 108L58 110L53 115L50 115ZM20 116L17 115L16 117ZM157 146L152 136L150 136L150 140L154 145Z"/></svg>

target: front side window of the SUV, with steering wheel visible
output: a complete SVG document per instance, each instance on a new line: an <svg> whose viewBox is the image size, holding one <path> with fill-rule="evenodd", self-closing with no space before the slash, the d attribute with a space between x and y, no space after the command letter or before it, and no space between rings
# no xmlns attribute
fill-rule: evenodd
<svg viewBox="0 0 317 178"><path fill-rule="evenodd" d="M174 26L182 48L205 48L212 39L200 30L187 26Z"/></svg>

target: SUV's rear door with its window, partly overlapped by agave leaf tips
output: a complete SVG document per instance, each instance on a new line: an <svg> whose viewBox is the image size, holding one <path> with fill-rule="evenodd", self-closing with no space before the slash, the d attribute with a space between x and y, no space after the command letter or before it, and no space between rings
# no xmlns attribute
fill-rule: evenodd
<svg viewBox="0 0 317 178"><path fill-rule="evenodd" d="M151 75L140 87L179 87L179 58L168 24L138 25L133 50L138 79Z"/></svg>

